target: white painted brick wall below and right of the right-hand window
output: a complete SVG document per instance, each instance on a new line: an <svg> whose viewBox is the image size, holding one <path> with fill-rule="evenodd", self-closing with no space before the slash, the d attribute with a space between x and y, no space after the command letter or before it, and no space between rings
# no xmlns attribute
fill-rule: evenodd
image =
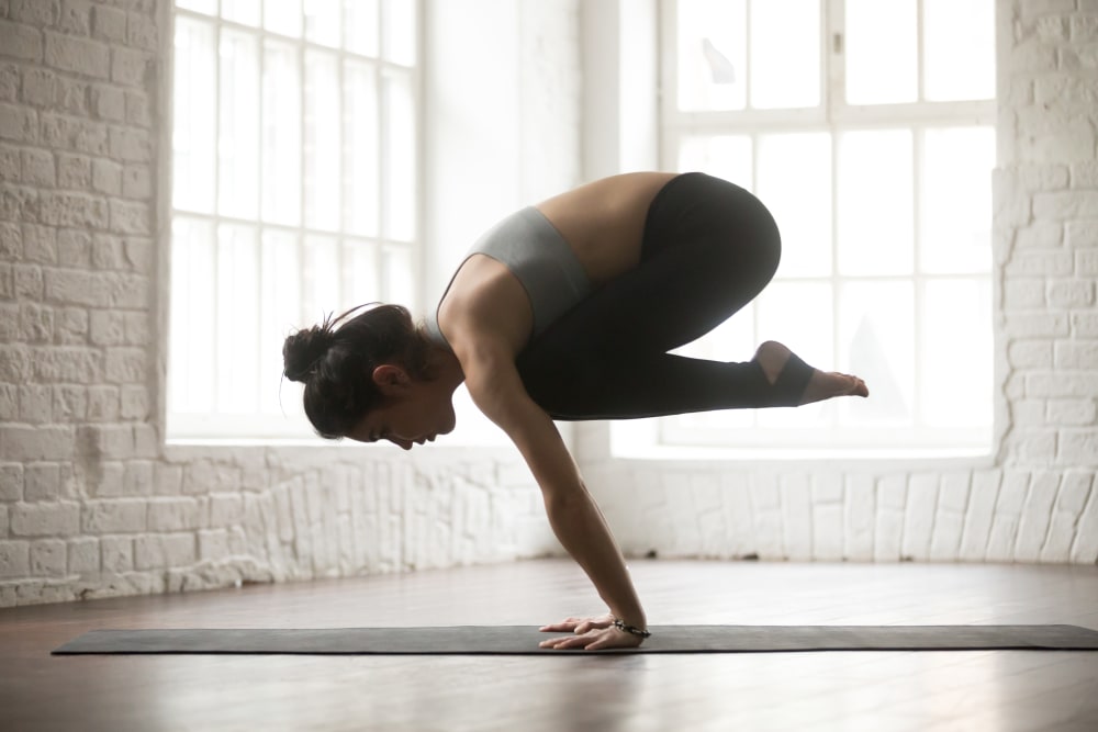
<svg viewBox="0 0 1098 732"><path fill-rule="evenodd" d="M1098 3L998 11L997 458L643 463L615 460L607 428L584 426L583 466L629 552L803 559L810 541L818 560L1098 560ZM714 477L725 510L707 516L722 520L699 526L696 486Z"/></svg>

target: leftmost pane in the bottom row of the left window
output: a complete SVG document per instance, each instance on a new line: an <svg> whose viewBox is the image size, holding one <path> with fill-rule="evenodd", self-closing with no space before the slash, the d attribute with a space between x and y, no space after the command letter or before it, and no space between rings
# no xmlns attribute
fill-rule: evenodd
<svg viewBox="0 0 1098 732"><path fill-rule="evenodd" d="M209 412L214 395L214 229L176 216L171 223L169 410Z"/></svg>

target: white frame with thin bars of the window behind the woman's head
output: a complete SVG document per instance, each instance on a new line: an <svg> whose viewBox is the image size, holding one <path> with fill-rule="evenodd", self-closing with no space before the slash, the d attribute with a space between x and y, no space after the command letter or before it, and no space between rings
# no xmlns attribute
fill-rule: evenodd
<svg viewBox="0 0 1098 732"><path fill-rule="evenodd" d="M214 120L213 123L215 132L215 143L214 150L210 151L213 156L213 180L210 181L214 187L213 190L213 209L210 211L193 211L177 207L178 199L175 196L175 191L169 195L171 196L168 203L168 211L170 212L170 219L172 224L172 230L176 230L180 222L183 224L190 223L198 226L209 227L210 230L214 232L213 243L210 245L210 251L212 261L203 262L202 267L204 271L212 271L215 279L217 279L217 262L219 262L219 244L216 232L223 226L240 226L250 228L254 232L253 245L255 248L255 278L258 281L255 292L259 299L259 303L255 307L251 317L239 318L234 315L234 313L222 312L219 307L217 297L219 291L224 291L226 286L222 283L221 286L214 285L202 285L200 283L193 286L182 288L187 292L172 292L170 295L170 307L169 307L169 334L168 334L168 399L166 407L166 418L167 418L167 438L169 441L173 442L190 442L190 441L205 441L205 440L291 440L291 441L312 441L313 439L318 439L313 437L313 430L305 419L302 407L301 407L301 385L293 384L288 380L281 379L282 361L281 361L281 339L284 338L290 331L301 327L307 327L313 324L318 323L323 317L329 313L334 312L338 314L347 307L363 304L367 302L380 301L380 302L400 302L404 304L413 312L419 309L421 299L423 296L423 261L422 261L422 246L419 237L422 237L422 222L419 221L419 212L422 210L422 201L419 200L421 187L416 184L416 181L422 179L422 165L423 165L423 102L422 102L422 80L421 80L421 69L423 59L423 3L421 0L376 0L372 4L377 8L377 23L378 23L378 47L376 55L365 55L362 53L356 53L348 48L348 33L340 24L339 27L339 43L337 47L330 45L320 44L317 42L306 38L306 20L305 20L305 4L301 3L300 0L294 0L298 2L298 8L301 9L301 34L298 37L282 35L276 33L265 27L262 13L267 3L280 2L282 0L257 0L260 12L260 20L258 26L251 26L234 22L232 20L226 20L222 18L222 0L209 0L209 4L213 8L213 13L206 13L201 11L191 10L189 8L180 8L177 3L172 3L171 10L171 30L170 34L172 37L172 49L175 48L175 37L176 37L176 25L178 19L186 19L190 22L205 23L212 26L214 32L214 56L220 59L221 56L221 37L222 33L226 30L234 33L248 34L257 38L256 49L257 49L257 74L256 74L256 99L258 100L260 108L264 102L264 43L267 40L274 41L282 45L292 45L295 50L295 58L298 63L298 74L299 76L299 119L294 121L296 124L298 134L300 135L300 153L301 159L299 161L299 171L301 173L301 201L299 205L299 215L296 225L287 225L283 223L273 223L270 219L265 219L265 211L262 196L259 192L256 194L256 206L255 215L240 217L235 215L225 215L219 211L219 191L217 185L220 184L219 179L221 177L220 162L217 157L217 139L220 138L220 81L221 72L220 66L221 61L215 61L215 67L213 71L213 78L215 79L215 89L211 90L211 97L213 100L214 108ZM304 0L305 3L309 0ZM361 0L336 0L339 12L347 12L347 9L356 2L361 2ZM414 44L414 58L411 63L402 63L390 58L390 54L386 50L386 21L389 20L385 15L390 7L394 7L395 3L406 2L411 5L414 13L414 26L412 29L412 43ZM194 2L184 2L182 4L193 5ZM357 5L356 10L362 5L369 5L370 3L362 2L361 5ZM344 15L340 15L344 18ZM309 155L306 149L306 117L309 116L310 110L306 106L307 90L305 85L305 58L306 53L317 52L320 54L325 54L327 57L334 57L337 59L339 69L339 79L336 82L336 89L339 97L339 110L340 110L340 147L339 147L339 170L340 170L340 182L339 191L341 198L341 206L338 214L339 224L335 227L327 228L316 228L307 226L305 223L305 177L306 177L306 165L305 158ZM175 52L171 54L172 65L175 65ZM403 60L403 59L402 59ZM377 199L374 200L374 205L377 206L378 223L376 232L373 234L363 234L361 230L352 232L348 224L348 211L354 202L350 201L349 191L351 189L349 182L349 149L348 149L348 131L349 125L355 124L355 120L350 119L350 114L347 111L346 103L346 87L345 87L345 69L347 68L348 61L358 64L360 67L369 67L372 69L373 76L373 88L377 90L377 115L373 120L373 124L377 125L378 131L378 144L377 144L377 160L378 160L378 171L376 173L374 190L377 192ZM178 79L178 74L172 74L173 79ZM390 180L390 176L393 172L395 166L390 160L390 148L392 146L393 135L397 134L394 128L391 128L390 120L393 113L392 100L388 95L385 80L399 78L401 85L408 85L411 88L411 120L414 124L413 131L404 131L403 134L411 134L411 146L412 156L414 159L414 165L411 170L402 170L402 174L411 176L411 188L410 195L411 199L406 201L406 205L411 206L411 236L408 235L393 235L390 230L389 222L386 221L386 212L390 210L389 200L386 196L390 194L391 187L386 184ZM176 93L175 82L172 82L171 93ZM175 117L176 115L169 115L171 119L167 121L167 126L171 129L172 135L168 139L175 139ZM264 134L262 131L266 126L270 124L269 119L265 119L262 111L260 109L257 115L258 129L257 135ZM262 158L262 143L257 143L258 154L256 157L257 165L259 166L259 171L256 180L260 180L264 177L264 158ZM172 165L175 165L176 155L172 153ZM173 177L172 177L173 178ZM171 188L171 187L169 187ZM407 209L405 209L406 211ZM302 277L293 283L290 290L296 293L298 302L300 307L292 307L292 312L289 315L282 313L271 313L265 309L265 303L270 304L272 299L278 301L280 299L279 289L282 286L278 282L264 282L264 247L265 244L264 235L268 232L280 233L282 235L288 235L290 237L295 237L296 239L296 261L302 264L299 271L301 271ZM401 233L406 234L406 232ZM320 281L312 282L311 286L313 292L317 292L314 296L310 297L303 294L306 290L305 280L307 279L304 271L306 269L307 259L304 254L306 247L306 239L309 237L326 237L329 240L335 241L335 261L329 262L329 271L336 273L336 281ZM170 269L178 269L180 262L186 261L180 258L180 247L186 247L182 241L175 240L172 237L171 241L171 262ZM352 247L358 247L356 250L356 262L358 263L357 271L356 267L351 266L349 252L351 252ZM362 258L362 248L368 247L369 251L365 254L365 259ZM363 261L367 263L363 267ZM372 263L371 263L372 262ZM362 274L366 270L368 273ZM179 285L183 282L182 277L179 272L172 271L171 273L172 283ZM274 279L274 278L271 278ZM367 285L363 286L363 279L367 281ZM372 284L371 284L372 282ZM400 286L397 286L400 283ZM228 283L227 286L232 286ZM177 288L170 288L176 290ZM265 294L266 292L266 294ZM192 344L188 342L186 337L181 336L181 331L186 330L186 320L189 317L190 301L188 295L197 299L209 297L212 299L212 312L214 314L214 326L216 333L211 333L210 337L204 340L204 342ZM311 301L311 302L310 302ZM278 322L272 322L278 319ZM284 320L284 322L282 322ZM234 412L228 412L222 408L222 405L217 403L216 392L225 391L224 384L221 388L216 387L217 380L222 376L220 375L219 359L220 350L226 344L226 339L233 338L233 333L247 334L249 330L266 331L265 336L255 337L255 342L259 347L259 352L256 354L254 360L254 365L256 371L254 378L244 379L245 388L255 388L255 404L256 408L249 412L240 412L236 409ZM242 336L243 337L243 336ZM190 356L188 356L190 353ZM186 404L189 398L193 396L193 386L189 383L190 373L188 370L188 358L191 359L206 359L204 363L200 367L204 372L204 380L209 383L213 379L215 385L214 394L210 395L210 408L203 410L187 410L186 408L180 408L181 405ZM222 364L223 367L224 364ZM237 381L239 383L239 379Z"/></svg>

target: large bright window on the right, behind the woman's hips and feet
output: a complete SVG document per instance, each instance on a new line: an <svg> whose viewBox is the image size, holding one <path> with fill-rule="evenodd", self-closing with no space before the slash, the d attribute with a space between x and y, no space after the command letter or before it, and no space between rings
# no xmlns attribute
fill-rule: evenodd
<svg viewBox="0 0 1098 732"><path fill-rule="evenodd" d="M754 192L777 275L681 352L768 339L871 399L668 418L672 444L986 452L994 0L663 4L663 162Z"/></svg>

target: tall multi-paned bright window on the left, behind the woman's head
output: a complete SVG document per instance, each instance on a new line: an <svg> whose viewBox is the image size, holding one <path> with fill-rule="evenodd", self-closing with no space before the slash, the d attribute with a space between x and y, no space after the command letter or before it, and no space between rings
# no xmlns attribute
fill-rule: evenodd
<svg viewBox="0 0 1098 732"><path fill-rule="evenodd" d="M287 334L415 304L416 9L176 1L169 437L312 433Z"/></svg>

